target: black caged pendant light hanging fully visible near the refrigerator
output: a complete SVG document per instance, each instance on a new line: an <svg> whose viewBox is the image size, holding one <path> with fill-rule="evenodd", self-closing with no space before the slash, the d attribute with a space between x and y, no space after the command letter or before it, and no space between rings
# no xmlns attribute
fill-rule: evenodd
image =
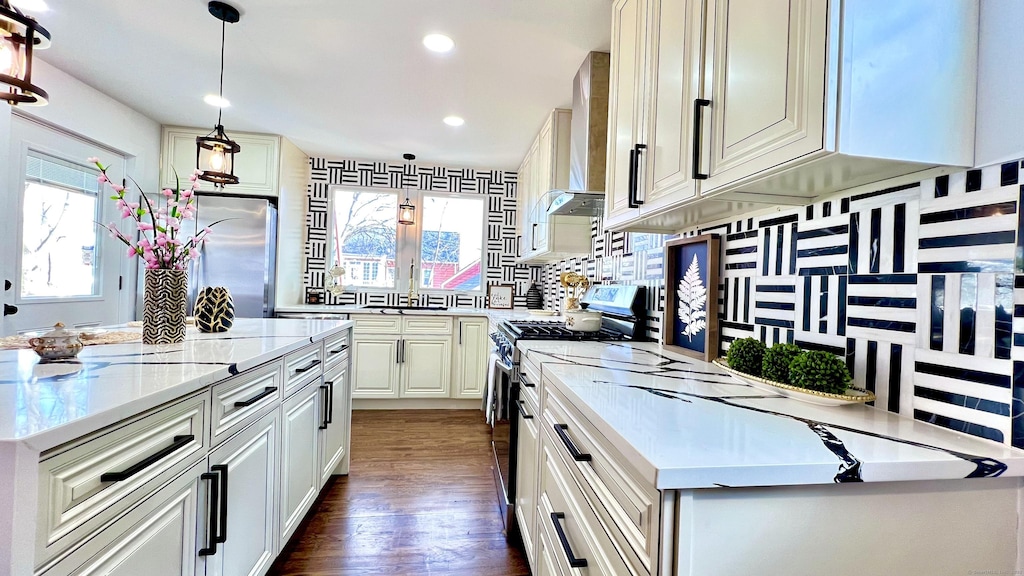
<svg viewBox="0 0 1024 576"><path fill-rule="evenodd" d="M220 118L224 113L224 30L227 23L234 24L241 14L234 7L223 2L210 2L210 13L220 20L220 101L218 102L217 125L205 136L196 138L196 168L199 179L213 182L215 187L239 183L234 175L234 155L242 147L227 137Z"/></svg>

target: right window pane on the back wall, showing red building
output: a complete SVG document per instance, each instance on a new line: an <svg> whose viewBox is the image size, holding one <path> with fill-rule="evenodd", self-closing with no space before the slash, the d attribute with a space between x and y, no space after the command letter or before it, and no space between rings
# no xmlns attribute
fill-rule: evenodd
<svg viewBox="0 0 1024 576"><path fill-rule="evenodd" d="M421 288L479 290L483 200L423 196Z"/></svg>

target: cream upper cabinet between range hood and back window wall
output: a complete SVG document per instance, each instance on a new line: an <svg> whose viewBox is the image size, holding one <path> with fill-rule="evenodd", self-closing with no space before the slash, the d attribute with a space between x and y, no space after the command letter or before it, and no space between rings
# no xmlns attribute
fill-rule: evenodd
<svg viewBox="0 0 1024 576"><path fill-rule="evenodd" d="M552 190L569 182L569 124L572 112L551 113L519 166L520 261L547 262L590 253L590 218L551 216Z"/></svg>

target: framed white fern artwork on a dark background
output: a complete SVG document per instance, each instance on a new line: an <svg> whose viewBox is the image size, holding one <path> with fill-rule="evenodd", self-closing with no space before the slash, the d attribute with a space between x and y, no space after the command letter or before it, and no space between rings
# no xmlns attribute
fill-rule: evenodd
<svg viewBox="0 0 1024 576"><path fill-rule="evenodd" d="M665 244L665 345L705 362L718 356L718 235Z"/></svg>

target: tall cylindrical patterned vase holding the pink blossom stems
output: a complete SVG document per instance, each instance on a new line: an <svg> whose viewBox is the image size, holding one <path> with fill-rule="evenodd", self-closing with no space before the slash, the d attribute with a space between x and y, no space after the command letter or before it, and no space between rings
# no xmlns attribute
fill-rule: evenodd
<svg viewBox="0 0 1024 576"><path fill-rule="evenodd" d="M183 270L145 271L142 343L174 344L185 339L188 274Z"/></svg>

